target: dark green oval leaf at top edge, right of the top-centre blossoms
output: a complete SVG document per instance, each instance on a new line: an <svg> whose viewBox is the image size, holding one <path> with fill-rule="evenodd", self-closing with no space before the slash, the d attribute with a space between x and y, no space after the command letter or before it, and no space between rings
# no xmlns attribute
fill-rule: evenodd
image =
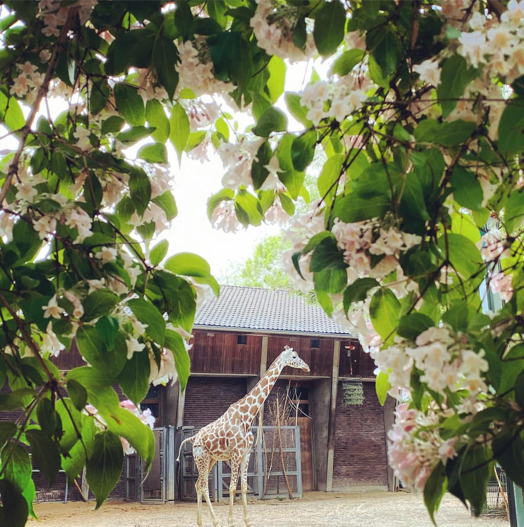
<svg viewBox="0 0 524 527"><path fill-rule="evenodd" d="M339 0L321 4L315 17L313 39L318 52L323 57L337 51L338 45L344 38L345 25L346 9Z"/></svg>

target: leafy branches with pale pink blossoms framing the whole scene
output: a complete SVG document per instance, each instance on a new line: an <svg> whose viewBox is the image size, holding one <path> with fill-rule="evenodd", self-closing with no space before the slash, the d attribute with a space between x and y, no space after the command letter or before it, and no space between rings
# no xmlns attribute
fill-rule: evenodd
<svg viewBox="0 0 524 527"><path fill-rule="evenodd" d="M411 396L389 461L432 518L446 491L478 514L495 461L524 484L520 3L4 6L0 410L20 417L0 423L0 523L33 513L32 463L50 483L86 466L98 506L124 449L153 460L147 416L112 386L133 403L184 389L197 301L218 294L203 259L153 242L177 213L168 141L221 156L216 227L292 216L292 285L358 331L381 400ZM318 56L328 76L284 93L290 63ZM50 356L73 339L86 364L64 376Z"/></svg>

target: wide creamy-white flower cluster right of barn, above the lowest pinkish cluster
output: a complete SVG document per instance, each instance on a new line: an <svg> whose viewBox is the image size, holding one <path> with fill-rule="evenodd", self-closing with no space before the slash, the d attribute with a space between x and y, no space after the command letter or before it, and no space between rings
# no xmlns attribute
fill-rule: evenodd
<svg viewBox="0 0 524 527"><path fill-rule="evenodd" d="M415 344L397 338L393 346L371 352L380 370L389 373L390 384L410 390L409 379L415 367L422 372L421 382L436 393L466 389L476 397L487 391L482 378L482 373L488 371L484 350L470 349L465 335L455 335L445 325L432 327L418 335Z"/></svg>

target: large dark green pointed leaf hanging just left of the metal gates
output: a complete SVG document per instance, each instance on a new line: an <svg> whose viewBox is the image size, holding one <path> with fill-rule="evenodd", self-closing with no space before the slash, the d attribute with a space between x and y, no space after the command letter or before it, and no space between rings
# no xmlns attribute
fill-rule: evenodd
<svg viewBox="0 0 524 527"><path fill-rule="evenodd" d="M122 472L123 451L117 435L110 431L94 436L93 453L86 465L86 479L97 497L96 509L115 488Z"/></svg>

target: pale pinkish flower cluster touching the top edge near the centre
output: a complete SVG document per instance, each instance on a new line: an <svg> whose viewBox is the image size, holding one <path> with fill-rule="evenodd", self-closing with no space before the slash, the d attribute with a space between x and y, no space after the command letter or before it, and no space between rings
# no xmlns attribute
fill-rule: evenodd
<svg viewBox="0 0 524 527"><path fill-rule="evenodd" d="M269 55L287 58L291 63L303 61L317 53L312 24L306 19L306 46L302 51L293 43L293 29L300 16L300 6L274 0L256 0L250 20L259 47Z"/></svg>

